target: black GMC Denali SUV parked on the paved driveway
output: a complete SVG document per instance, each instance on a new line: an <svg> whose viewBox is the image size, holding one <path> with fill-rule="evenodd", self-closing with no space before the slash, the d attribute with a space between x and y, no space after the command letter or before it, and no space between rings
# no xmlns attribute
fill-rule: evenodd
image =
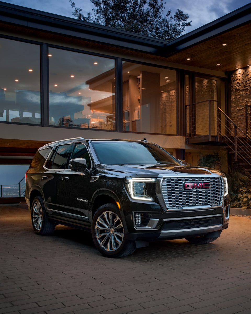
<svg viewBox="0 0 251 314"><path fill-rule="evenodd" d="M185 165L145 138L49 143L26 173L25 197L37 234L51 234L57 224L87 230L107 257L154 240L206 244L229 220L222 173Z"/></svg>

